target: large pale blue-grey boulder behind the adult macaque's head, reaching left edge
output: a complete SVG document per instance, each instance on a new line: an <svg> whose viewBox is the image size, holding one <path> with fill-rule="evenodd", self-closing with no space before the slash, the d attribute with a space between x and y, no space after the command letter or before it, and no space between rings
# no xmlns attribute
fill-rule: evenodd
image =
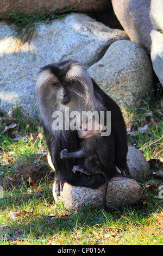
<svg viewBox="0 0 163 256"><path fill-rule="evenodd" d="M84 14L38 25L30 44L20 45L14 35L10 36L14 30L4 22L0 31L0 108L5 112L17 104L30 113L42 66L70 58L90 66L112 42L128 39L126 32L106 27Z"/></svg>

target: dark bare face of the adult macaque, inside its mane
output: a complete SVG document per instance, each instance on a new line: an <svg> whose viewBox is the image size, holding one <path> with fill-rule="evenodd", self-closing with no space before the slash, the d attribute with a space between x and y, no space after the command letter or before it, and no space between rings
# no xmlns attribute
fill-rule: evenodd
<svg viewBox="0 0 163 256"><path fill-rule="evenodd" d="M71 94L70 94L70 83L63 82L63 83L55 83L55 89L57 89L57 99L60 104L67 105L71 101Z"/></svg>

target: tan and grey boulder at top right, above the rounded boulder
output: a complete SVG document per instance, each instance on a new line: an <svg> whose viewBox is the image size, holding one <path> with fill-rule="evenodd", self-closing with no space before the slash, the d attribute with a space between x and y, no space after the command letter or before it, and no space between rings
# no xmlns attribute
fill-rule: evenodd
<svg viewBox="0 0 163 256"><path fill-rule="evenodd" d="M112 0L115 15L130 40L145 47L148 53L151 50L152 29L149 17L150 4L151 0Z"/></svg>

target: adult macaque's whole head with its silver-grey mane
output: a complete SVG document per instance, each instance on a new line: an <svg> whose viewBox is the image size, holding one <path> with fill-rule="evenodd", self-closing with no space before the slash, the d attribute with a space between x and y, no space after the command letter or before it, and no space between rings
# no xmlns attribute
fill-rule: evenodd
<svg viewBox="0 0 163 256"><path fill-rule="evenodd" d="M55 109L62 109L59 105L81 111L89 103L87 98L92 95L93 84L82 65L70 60L43 67L36 91L40 107L46 112L51 109L52 114Z"/></svg>

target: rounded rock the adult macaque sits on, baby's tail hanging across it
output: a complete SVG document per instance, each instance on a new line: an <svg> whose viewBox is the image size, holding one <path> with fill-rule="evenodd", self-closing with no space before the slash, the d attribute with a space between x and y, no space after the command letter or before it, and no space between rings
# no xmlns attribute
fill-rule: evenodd
<svg viewBox="0 0 163 256"><path fill-rule="evenodd" d="M103 208L104 185L93 190L87 187L74 187L64 184L60 197L55 193L55 182L53 185L53 197L55 202L64 203L66 209ZM110 179L106 195L108 209L115 207L121 209L123 205L133 205L141 199L143 194L141 185L132 179L114 177Z"/></svg>

